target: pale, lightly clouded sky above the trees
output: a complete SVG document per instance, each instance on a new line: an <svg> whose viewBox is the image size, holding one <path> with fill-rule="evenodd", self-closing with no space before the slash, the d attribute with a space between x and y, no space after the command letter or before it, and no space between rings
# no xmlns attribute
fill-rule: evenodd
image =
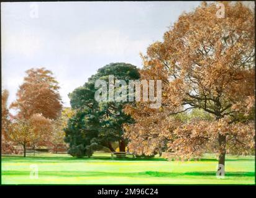
<svg viewBox="0 0 256 198"><path fill-rule="evenodd" d="M139 53L162 41L200 2L1 2L2 89L8 103L32 67L51 70L68 93L111 62L142 67Z"/></svg>

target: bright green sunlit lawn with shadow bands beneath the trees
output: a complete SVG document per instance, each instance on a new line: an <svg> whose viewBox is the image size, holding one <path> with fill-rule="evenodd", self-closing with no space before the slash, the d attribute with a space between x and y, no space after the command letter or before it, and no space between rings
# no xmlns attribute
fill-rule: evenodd
<svg viewBox="0 0 256 198"><path fill-rule="evenodd" d="M39 178L30 179L30 165L39 167ZM255 158L227 156L226 176L216 178L217 160L166 161L126 158L111 160L108 153L91 158L66 154L35 157L2 156L2 184L255 184Z"/></svg>

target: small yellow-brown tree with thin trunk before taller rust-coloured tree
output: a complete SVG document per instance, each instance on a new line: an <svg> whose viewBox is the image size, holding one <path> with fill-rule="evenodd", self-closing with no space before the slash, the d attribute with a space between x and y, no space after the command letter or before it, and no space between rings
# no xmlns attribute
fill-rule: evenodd
<svg viewBox="0 0 256 198"><path fill-rule="evenodd" d="M26 157L27 146L39 144L48 138L51 131L51 120L44 118L42 114L34 114L30 119L16 119L12 123L10 137L14 142L22 145Z"/></svg>

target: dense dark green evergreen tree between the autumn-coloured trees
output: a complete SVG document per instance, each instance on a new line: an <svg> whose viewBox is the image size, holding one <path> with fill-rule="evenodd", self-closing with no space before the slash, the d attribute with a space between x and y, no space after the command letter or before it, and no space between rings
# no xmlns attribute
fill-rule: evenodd
<svg viewBox="0 0 256 198"><path fill-rule="evenodd" d="M119 150L124 151L127 140L122 137L124 123L133 123L134 120L124 113L124 105L127 101L102 101L94 99L94 93L98 88L94 88L96 80L105 80L108 84L109 75L114 75L114 79L137 80L139 71L135 66L122 62L111 63L98 70L92 75L88 82L76 88L70 93L71 108L78 113L70 119L66 131L65 141L70 144L68 153L73 156L91 156L94 150L108 147L111 151L112 142L119 142ZM108 87L108 86L107 86ZM128 92L127 92L128 97ZM83 118L81 118L83 117Z"/></svg>

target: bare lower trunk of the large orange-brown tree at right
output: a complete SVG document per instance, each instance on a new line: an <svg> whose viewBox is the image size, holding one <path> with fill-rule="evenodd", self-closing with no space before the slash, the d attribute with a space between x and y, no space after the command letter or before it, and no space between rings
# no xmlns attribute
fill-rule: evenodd
<svg viewBox="0 0 256 198"><path fill-rule="evenodd" d="M225 175L226 136L219 134L219 164L217 176Z"/></svg>

